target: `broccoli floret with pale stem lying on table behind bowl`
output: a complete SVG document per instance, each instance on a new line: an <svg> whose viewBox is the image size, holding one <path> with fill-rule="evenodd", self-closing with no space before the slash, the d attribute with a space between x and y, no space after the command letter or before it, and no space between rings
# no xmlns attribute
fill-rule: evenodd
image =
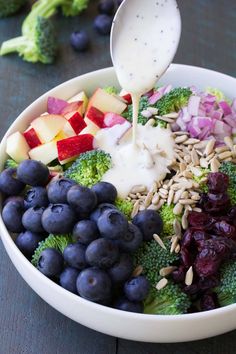
<svg viewBox="0 0 236 354"><path fill-rule="evenodd" d="M26 20L27 21L27 18ZM56 54L56 39L50 20L38 16L25 26L21 37L3 42L0 55L18 52L25 61L51 64Z"/></svg>

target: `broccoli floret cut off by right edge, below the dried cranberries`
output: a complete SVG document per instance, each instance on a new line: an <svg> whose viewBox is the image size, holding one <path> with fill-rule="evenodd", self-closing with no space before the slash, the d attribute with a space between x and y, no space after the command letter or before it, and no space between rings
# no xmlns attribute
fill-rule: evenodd
<svg viewBox="0 0 236 354"><path fill-rule="evenodd" d="M225 263L220 270L220 285L215 288L220 306L236 302L236 262Z"/></svg>

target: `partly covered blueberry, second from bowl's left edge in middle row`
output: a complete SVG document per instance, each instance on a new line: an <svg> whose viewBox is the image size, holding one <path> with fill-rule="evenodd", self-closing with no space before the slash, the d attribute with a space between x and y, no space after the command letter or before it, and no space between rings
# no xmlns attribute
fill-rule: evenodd
<svg viewBox="0 0 236 354"><path fill-rule="evenodd" d="M44 209L43 207L33 207L26 210L22 217L22 224L26 230L44 232L41 222Z"/></svg>

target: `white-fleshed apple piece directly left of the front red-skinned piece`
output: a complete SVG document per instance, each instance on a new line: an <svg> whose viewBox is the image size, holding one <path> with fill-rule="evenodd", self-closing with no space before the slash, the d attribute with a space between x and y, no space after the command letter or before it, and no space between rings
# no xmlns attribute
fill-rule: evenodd
<svg viewBox="0 0 236 354"><path fill-rule="evenodd" d="M37 146L29 151L29 156L33 160L41 161L45 165L49 164L57 158L56 140Z"/></svg>

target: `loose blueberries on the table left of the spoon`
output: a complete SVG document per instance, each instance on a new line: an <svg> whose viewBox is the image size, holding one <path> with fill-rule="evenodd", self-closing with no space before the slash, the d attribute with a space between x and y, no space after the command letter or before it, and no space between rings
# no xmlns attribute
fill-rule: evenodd
<svg viewBox="0 0 236 354"><path fill-rule="evenodd" d="M94 19L93 27L101 35L109 35L114 13L122 0L100 0L98 12ZM70 42L76 51L86 51L89 47L89 36L86 31L75 31L71 34Z"/></svg>

